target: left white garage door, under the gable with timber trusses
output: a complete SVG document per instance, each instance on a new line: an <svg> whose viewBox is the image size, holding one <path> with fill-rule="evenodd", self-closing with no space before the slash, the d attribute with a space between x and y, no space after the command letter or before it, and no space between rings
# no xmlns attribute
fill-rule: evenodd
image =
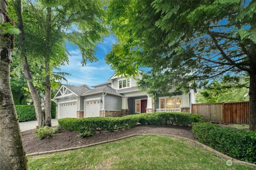
<svg viewBox="0 0 256 170"><path fill-rule="evenodd" d="M65 117L75 117L76 118L76 111L77 111L77 103L69 102L69 103L63 103L59 104L60 106L60 118Z"/></svg>

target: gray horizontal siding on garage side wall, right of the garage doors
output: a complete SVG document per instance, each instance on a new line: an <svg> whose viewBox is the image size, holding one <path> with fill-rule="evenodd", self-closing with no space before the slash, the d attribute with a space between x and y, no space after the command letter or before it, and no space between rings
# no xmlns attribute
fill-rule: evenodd
<svg viewBox="0 0 256 170"><path fill-rule="evenodd" d="M121 111L122 97L109 95L105 96L105 111Z"/></svg>

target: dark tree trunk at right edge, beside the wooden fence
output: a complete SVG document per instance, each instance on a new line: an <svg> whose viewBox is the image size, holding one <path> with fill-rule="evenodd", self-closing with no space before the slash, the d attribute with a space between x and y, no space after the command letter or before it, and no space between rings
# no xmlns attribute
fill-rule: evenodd
<svg viewBox="0 0 256 170"><path fill-rule="evenodd" d="M249 128L256 132L256 74L250 74L250 114L249 114Z"/></svg>

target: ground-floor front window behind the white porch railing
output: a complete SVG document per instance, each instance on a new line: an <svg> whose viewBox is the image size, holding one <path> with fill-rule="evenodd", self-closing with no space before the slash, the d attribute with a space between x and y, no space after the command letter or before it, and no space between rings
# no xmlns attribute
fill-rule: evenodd
<svg viewBox="0 0 256 170"><path fill-rule="evenodd" d="M159 99L160 108L181 108L181 97L164 97Z"/></svg>

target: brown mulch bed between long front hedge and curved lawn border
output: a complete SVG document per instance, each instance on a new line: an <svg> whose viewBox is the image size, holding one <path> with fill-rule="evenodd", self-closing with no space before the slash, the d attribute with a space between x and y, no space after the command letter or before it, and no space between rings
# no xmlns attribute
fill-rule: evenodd
<svg viewBox="0 0 256 170"><path fill-rule="evenodd" d="M135 128L114 132L101 131L95 132L92 137L81 138L78 133L61 129L59 133L54 134L50 139L39 140L36 137L35 130L22 132L23 146L26 154L49 151L76 146L84 146L92 143L113 140L125 137L131 134L172 134L180 137L196 140L195 134L191 132L189 127L173 126L173 125L138 125Z"/></svg>

